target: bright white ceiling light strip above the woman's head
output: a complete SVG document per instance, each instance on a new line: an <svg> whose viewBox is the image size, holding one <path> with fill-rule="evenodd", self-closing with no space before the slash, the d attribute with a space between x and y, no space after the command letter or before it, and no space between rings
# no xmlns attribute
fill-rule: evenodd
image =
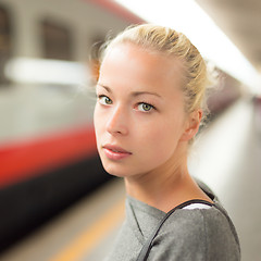
<svg viewBox="0 0 261 261"><path fill-rule="evenodd" d="M236 46L194 0L115 0L149 23L184 33L206 60L261 92L261 76Z"/></svg>

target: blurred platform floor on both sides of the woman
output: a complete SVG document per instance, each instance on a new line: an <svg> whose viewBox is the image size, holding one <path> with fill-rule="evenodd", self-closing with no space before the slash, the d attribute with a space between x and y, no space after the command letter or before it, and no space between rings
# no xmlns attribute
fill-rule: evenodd
<svg viewBox="0 0 261 261"><path fill-rule="evenodd" d="M240 238L243 261L261 260L261 111L240 100L200 136L190 173L227 209ZM124 187L114 179L39 228L0 261L100 261L124 219Z"/></svg>

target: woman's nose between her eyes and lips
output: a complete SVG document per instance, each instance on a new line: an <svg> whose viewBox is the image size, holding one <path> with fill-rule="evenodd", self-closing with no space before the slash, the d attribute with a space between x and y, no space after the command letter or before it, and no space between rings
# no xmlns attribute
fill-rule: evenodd
<svg viewBox="0 0 261 261"><path fill-rule="evenodd" d="M127 135L127 115L123 108L116 107L111 113L107 122L107 132L111 135Z"/></svg>

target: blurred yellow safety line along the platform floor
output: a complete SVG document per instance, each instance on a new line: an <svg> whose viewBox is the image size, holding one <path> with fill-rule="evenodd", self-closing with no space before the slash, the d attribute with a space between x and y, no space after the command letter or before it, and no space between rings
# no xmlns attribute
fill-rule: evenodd
<svg viewBox="0 0 261 261"><path fill-rule="evenodd" d="M49 261L75 261L87 256L124 217L124 201L121 200L95 224L87 227L64 250Z"/></svg>

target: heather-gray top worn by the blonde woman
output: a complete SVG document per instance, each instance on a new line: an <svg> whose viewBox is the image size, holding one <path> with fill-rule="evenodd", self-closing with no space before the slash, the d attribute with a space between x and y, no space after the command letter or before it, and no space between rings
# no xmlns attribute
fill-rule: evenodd
<svg viewBox="0 0 261 261"><path fill-rule="evenodd" d="M200 184L202 188L202 184ZM206 187L208 195L211 194ZM240 248L235 227L213 196L209 208L177 209L153 239L148 261L238 261ZM165 213L132 197L126 220L107 261L134 261Z"/></svg>

